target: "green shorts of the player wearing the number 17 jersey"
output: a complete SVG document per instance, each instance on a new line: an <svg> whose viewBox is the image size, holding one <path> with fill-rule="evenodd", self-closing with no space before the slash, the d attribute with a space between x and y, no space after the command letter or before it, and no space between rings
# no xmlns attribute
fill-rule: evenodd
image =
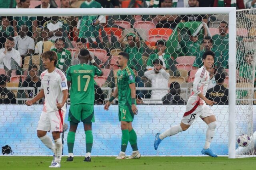
<svg viewBox="0 0 256 170"><path fill-rule="evenodd" d="M91 104L76 104L70 106L68 112L68 121L79 123L80 121L94 122L94 107Z"/></svg>

